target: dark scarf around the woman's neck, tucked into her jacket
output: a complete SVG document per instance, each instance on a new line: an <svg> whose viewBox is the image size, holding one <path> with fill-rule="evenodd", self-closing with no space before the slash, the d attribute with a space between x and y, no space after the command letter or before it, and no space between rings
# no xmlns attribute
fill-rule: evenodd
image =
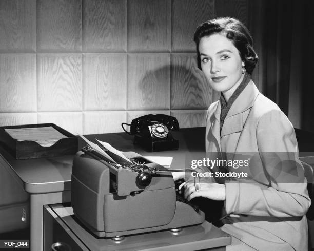
<svg viewBox="0 0 314 251"><path fill-rule="evenodd" d="M225 122L225 118L226 118L233 102L235 101L235 99L237 99L237 97L240 95L240 93L244 90L244 88L247 86L247 84L249 83L250 80L251 80L251 76L249 74L245 73L242 82L240 83L238 88L235 89L235 91L233 92L233 94L229 98L228 103L226 102L222 92L220 93L220 99L219 99L220 104L221 104L220 133L221 133L221 129L223 127L223 124Z"/></svg>

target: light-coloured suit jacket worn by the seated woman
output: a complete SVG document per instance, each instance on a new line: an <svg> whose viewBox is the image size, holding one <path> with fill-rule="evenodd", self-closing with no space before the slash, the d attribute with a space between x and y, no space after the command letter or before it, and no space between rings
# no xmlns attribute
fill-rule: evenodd
<svg viewBox="0 0 314 251"><path fill-rule="evenodd" d="M240 217L227 217L222 229L258 250L307 250L305 214L311 201L306 180L277 182L263 158L264 152L296 153L300 161L292 124L252 80L232 104L221 133L220 113L219 101L207 111L206 152L255 152L262 163L259 175L250 177L254 182L226 182L225 211ZM301 163L296 172L304 174Z"/></svg>

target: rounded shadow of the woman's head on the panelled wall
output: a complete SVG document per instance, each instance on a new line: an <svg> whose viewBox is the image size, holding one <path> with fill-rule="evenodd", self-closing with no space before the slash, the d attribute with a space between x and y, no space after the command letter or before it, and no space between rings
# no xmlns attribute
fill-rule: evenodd
<svg viewBox="0 0 314 251"><path fill-rule="evenodd" d="M212 102L212 89L196 66L149 70L135 89L143 110L204 110Z"/></svg>

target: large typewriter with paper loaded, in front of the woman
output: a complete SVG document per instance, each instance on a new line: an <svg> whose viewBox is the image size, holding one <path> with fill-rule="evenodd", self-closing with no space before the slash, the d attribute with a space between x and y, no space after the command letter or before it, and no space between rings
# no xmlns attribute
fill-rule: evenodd
<svg viewBox="0 0 314 251"><path fill-rule="evenodd" d="M90 232L120 240L204 222L204 213L176 193L173 170L134 152L124 156L130 161L118 157L113 162L92 147L74 156L72 208Z"/></svg>

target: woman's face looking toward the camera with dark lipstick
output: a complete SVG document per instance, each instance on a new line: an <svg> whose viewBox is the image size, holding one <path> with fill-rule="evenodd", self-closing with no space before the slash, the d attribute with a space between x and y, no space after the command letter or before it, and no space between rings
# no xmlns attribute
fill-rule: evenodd
<svg viewBox="0 0 314 251"><path fill-rule="evenodd" d="M223 92L228 101L244 76L238 49L224 34L214 33L201 38L199 51L202 71L210 86Z"/></svg>

